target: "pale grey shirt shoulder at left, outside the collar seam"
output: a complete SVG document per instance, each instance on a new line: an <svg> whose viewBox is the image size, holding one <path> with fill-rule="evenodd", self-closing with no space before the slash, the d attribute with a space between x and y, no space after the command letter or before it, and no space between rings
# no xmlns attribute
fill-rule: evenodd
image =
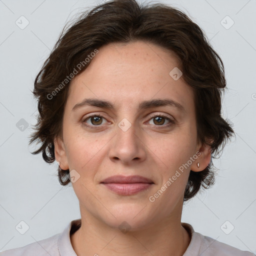
<svg viewBox="0 0 256 256"><path fill-rule="evenodd" d="M46 239L27 244L23 247L8 249L0 252L0 256L59 256L58 238L60 234L55 234Z"/></svg>

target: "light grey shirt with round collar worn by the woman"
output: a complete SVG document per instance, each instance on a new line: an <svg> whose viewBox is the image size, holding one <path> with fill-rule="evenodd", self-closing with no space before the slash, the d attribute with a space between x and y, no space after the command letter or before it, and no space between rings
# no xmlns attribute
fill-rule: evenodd
<svg viewBox="0 0 256 256"><path fill-rule="evenodd" d="M0 253L0 256L77 256L70 242L70 234L74 233L80 225L81 219L72 220L62 233L23 247L5 250ZM181 222L181 225L191 235L191 241L183 256L255 256L249 251L239 250L195 232L188 223Z"/></svg>

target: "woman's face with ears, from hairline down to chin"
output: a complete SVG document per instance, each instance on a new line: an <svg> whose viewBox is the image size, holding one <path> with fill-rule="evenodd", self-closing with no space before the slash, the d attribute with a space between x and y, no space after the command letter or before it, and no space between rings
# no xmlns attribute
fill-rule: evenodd
<svg viewBox="0 0 256 256"><path fill-rule="evenodd" d="M178 78L177 67L176 58L160 46L111 43L71 80L63 142L55 142L55 156L70 170L81 216L115 227L126 221L134 230L180 218L189 171L204 169L210 156L197 158L193 92ZM85 99L112 107L79 104ZM156 99L179 107L143 103ZM102 183L113 175L139 175L153 183Z"/></svg>

